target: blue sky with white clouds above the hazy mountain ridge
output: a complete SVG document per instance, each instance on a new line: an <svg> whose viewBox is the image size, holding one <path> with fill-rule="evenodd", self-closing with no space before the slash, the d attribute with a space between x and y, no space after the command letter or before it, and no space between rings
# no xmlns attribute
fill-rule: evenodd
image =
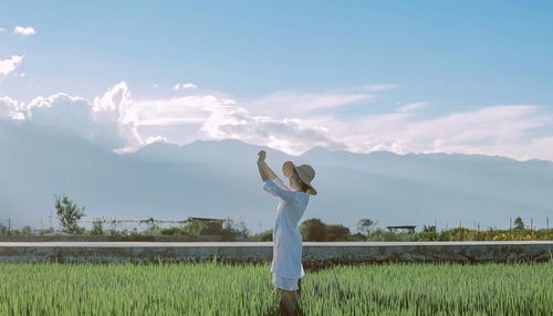
<svg viewBox="0 0 553 316"><path fill-rule="evenodd" d="M93 108L123 82L135 114L113 119L133 125L127 148L230 137L291 154L322 146L553 160L549 1L30 2L0 11L0 61L23 56L0 74L0 97L17 102L20 118L56 93ZM206 97L204 116L180 112ZM166 115L154 117L159 106ZM248 128L237 130L238 113ZM445 126L457 129L429 131ZM300 139L286 134L312 127Z"/></svg>

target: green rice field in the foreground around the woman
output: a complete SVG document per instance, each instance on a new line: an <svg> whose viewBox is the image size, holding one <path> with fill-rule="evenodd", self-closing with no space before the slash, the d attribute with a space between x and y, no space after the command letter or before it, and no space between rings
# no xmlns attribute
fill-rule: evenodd
<svg viewBox="0 0 553 316"><path fill-rule="evenodd" d="M0 315L276 315L269 264L0 263ZM304 315L553 315L553 262L332 266Z"/></svg>

